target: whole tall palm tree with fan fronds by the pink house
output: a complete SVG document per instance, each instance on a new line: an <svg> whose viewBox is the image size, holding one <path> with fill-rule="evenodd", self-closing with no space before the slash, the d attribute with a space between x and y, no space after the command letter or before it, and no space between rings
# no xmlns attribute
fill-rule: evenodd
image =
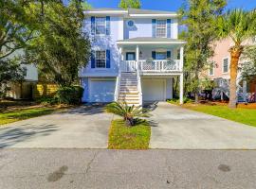
<svg viewBox="0 0 256 189"><path fill-rule="evenodd" d="M218 36L221 39L229 37L234 43L234 45L229 48L231 58L229 108L236 108L238 61L244 50L242 43L255 34L255 12L255 10L247 12L243 9L233 9L218 18Z"/></svg>

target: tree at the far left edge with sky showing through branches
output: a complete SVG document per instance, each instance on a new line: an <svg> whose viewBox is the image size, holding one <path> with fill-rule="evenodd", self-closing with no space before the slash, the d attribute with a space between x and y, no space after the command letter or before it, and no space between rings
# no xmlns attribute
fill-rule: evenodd
<svg viewBox="0 0 256 189"><path fill-rule="evenodd" d="M9 82L24 78L22 49L32 39L33 32L26 6L26 2L19 0L0 1L0 97L9 91Z"/></svg>

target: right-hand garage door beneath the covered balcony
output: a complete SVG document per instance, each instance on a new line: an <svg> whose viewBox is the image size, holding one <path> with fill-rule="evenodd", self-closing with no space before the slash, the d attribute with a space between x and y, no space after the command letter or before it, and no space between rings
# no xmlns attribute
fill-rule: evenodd
<svg viewBox="0 0 256 189"><path fill-rule="evenodd" d="M143 79L142 97L143 101L165 101L165 80Z"/></svg>

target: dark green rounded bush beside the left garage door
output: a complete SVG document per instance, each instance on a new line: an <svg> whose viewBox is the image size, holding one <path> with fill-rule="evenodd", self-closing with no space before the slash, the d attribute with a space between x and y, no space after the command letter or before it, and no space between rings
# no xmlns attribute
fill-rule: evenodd
<svg viewBox="0 0 256 189"><path fill-rule="evenodd" d="M83 88L80 86L61 87L55 97L61 104L80 104Z"/></svg>

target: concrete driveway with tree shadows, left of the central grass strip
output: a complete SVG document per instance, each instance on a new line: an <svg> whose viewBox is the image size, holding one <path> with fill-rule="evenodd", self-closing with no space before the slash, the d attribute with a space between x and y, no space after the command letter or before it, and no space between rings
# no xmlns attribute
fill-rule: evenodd
<svg viewBox="0 0 256 189"><path fill-rule="evenodd" d="M0 127L0 147L106 148L112 118L102 106L82 106L27 119Z"/></svg>

